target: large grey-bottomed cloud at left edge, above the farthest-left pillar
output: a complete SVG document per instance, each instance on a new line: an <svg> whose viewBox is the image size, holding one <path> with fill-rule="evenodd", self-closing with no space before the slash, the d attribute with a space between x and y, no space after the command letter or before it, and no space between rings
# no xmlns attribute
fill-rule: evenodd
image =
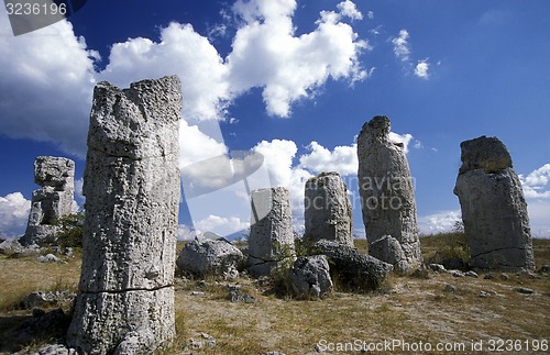
<svg viewBox="0 0 550 355"><path fill-rule="evenodd" d="M84 156L98 54L66 20L13 36L4 7L0 48L0 133Z"/></svg>

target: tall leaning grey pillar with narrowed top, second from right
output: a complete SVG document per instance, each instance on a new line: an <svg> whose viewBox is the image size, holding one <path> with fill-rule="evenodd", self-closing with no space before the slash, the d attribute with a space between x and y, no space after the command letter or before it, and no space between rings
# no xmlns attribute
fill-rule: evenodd
<svg viewBox="0 0 550 355"><path fill-rule="evenodd" d="M359 190L369 244L391 235L402 249L370 247L369 253L395 263L396 270L408 271L422 265L415 190L404 146L389 141L389 131L386 117L375 117L363 125L358 138Z"/></svg>

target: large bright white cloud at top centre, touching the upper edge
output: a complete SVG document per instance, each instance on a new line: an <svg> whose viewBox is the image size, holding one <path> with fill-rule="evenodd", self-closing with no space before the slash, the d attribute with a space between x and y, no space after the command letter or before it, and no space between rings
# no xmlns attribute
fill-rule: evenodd
<svg viewBox="0 0 550 355"><path fill-rule="evenodd" d="M289 117L290 106L314 96L329 78L362 80L359 55L366 47L341 14L322 12L314 32L295 35L296 1L238 1L243 21L227 58L234 95L262 88L267 112ZM356 14L355 14L356 16Z"/></svg>

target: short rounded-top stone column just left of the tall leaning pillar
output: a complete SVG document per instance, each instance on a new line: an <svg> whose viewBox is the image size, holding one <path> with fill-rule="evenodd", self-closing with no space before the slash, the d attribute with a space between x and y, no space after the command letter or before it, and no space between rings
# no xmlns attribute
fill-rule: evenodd
<svg viewBox="0 0 550 355"><path fill-rule="evenodd" d="M304 204L307 238L314 243L327 240L353 246L350 197L338 173L321 173L307 180Z"/></svg>

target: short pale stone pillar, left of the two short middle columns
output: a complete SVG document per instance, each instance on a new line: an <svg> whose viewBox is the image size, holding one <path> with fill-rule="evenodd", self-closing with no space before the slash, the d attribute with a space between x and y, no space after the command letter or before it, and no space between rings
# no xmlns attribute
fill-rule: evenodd
<svg viewBox="0 0 550 355"><path fill-rule="evenodd" d="M294 258L290 193L283 187L260 189L251 195L251 226L246 266L254 276Z"/></svg>

